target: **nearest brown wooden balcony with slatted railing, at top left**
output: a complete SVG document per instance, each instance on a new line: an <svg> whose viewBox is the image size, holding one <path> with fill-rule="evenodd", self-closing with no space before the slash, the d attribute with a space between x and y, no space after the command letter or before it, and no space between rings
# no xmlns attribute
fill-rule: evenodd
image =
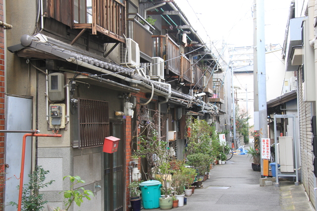
<svg viewBox="0 0 317 211"><path fill-rule="evenodd" d="M125 0L44 0L46 17L53 18L81 32L73 44L86 30L89 34L103 38L104 42L125 42ZM56 29L57 30L57 29Z"/></svg>

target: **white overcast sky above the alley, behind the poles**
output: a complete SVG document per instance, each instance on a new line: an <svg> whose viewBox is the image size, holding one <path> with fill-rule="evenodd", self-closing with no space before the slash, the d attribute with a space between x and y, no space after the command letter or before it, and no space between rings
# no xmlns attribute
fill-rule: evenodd
<svg viewBox="0 0 317 211"><path fill-rule="evenodd" d="M236 47L253 45L254 0L174 1L204 42L222 43L224 40ZM264 1L265 44L283 45L290 2Z"/></svg>

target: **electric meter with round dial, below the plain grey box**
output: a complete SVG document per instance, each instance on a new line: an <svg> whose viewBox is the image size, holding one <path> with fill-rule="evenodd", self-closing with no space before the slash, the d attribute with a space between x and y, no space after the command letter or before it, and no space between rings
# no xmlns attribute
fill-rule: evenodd
<svg viewBox="0 0 317 211"><path fill-rule="evenodd" d="M65 104L50 105L50 128L59 130L65 128Z"/></svg>

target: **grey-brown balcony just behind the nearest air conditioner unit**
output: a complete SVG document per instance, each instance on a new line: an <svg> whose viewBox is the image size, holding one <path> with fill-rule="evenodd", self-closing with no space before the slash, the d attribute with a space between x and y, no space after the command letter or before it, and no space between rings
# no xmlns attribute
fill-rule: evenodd
<svg viewBox="0 0 317 211"><path fill-rule="evenodd" d="M145 25L140 23L140 21L146 22L146 20L138 13L128 13L127 15L129 16L129 18L127 18L128 37L139 44L140 52L146 54L149 58L153 57L153 45L151 45L153 43L153 33L149 29L146 29ZM153 28L150 24L148 24L148 26ZM140 56L147 59L142 53Z"/></svg>

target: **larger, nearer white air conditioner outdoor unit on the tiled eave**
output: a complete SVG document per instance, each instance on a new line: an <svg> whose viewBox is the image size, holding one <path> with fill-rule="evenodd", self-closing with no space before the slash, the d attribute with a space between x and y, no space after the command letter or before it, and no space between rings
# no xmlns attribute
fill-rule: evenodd
<svg viewBox="0 0 317 211"><path fill-rule="evenodd" d="M120 43L120 65L129 67L140 66L140 49L139 44L131 38L126 39L126 43Z"/></svg>

